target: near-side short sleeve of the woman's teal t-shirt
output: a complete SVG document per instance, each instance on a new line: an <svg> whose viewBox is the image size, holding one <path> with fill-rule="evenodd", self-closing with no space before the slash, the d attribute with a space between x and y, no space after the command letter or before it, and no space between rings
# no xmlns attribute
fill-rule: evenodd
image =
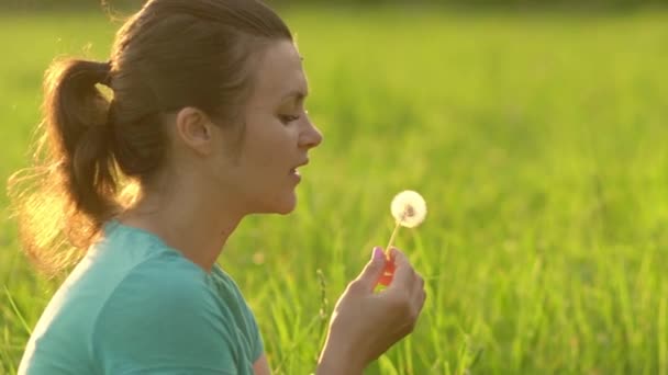
<svg viewBox="0 0 668 375"><path fill-rule="evenodd" d="M203 281L133 272L97 319L103 374L236 374L235 344ZM159 281L159 282L156 282Z"/></svg>

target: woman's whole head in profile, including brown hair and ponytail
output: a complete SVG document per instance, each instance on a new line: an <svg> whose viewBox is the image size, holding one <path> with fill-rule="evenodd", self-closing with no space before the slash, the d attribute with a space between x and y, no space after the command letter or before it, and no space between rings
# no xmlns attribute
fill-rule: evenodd
<svg viewBox="0 0 668 375"><path fill-rule="evenodd" d="M123 208L116 192L126 180L149 191L170 172L235 194L248 212L291 211L287 181L321 139L303 110L307 89L290 31L263 3L148 1L119 31L108 63L65 60L46 75L47 154L31 177L38 186L25 188L21 174L10 184L25 250L60 268L48 254L59 232L88 247ZM45 193L59 196L51 202L64 219L44 215Z"/></svg>

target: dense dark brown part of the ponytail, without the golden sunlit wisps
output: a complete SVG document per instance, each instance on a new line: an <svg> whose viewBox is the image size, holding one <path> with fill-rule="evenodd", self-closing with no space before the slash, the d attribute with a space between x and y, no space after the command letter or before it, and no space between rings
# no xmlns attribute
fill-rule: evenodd
<svg viewBox="0 0 668 375"><path fill-rule="evenodd" d="M66 191L76 211L98 227L112 211L116 188L109 102L96 87L109 76L109 64L67 60L53 66L45 80L45 121Z"/></svg>

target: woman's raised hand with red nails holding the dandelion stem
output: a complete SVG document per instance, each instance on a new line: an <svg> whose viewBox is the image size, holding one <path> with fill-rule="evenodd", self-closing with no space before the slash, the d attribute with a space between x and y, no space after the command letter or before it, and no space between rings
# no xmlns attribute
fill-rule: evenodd
<svg viewBox="0 0 668 375"><path fill-rule="evenodd" d="M401 251L391 249L389 258L375 248L371 261L336 303L319 375L361 374L413 331L426 297L424 281ZM392 270L388 287L374 293L383 272Z"/></svg>

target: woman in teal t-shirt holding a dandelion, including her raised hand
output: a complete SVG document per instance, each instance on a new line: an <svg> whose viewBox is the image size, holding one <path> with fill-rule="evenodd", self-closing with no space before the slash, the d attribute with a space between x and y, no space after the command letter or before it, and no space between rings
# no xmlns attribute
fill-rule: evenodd
<svg viewBox="0 0 668 375"><path fill-rule="evenodd" d="M215 260L244 216L294 208L297 169L322 141L307 94L290 31L249 0L148 1L109 63L52 66L40 189L16 180L14 197L38 264L68 264L53 232L87 251L19 373L268 374L255 318ZM41 215L54 202L63 215ZM360 374L412 330L423 281L390 253L376 248L338 300L318 374Z"/></svg>

